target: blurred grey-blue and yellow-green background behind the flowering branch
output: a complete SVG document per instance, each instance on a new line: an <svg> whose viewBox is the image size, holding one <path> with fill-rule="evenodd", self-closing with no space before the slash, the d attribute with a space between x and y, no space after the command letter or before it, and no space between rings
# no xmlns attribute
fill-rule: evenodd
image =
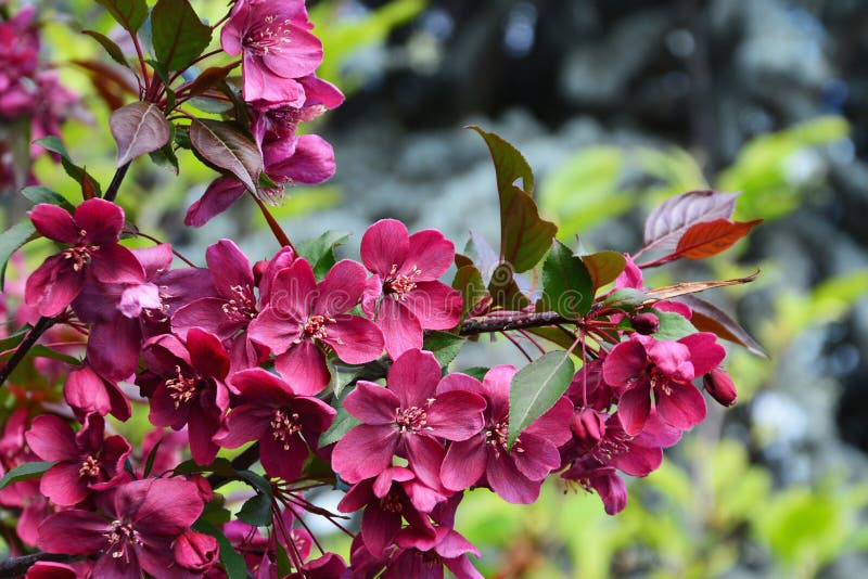
<svg viewBox="0 0 868 579"><path fill-rule="evenodd" d="M194 2L213 21L221 2ZM742 192L737 218L765 222L701 267L650 285L736 278L711 299L763 344L730 348L739 403L629 483L627 509L551 484L532 506L471 493L458 528L486 577L828 577L868 566L868 2L864 0L309 1L326 44L320 75L346 103L308 130L334 146L335 177L295 188L276 215L294 240L360 234L383 217L497 241L494 171L475 124L528 158L542 214L573 247L630 252L661 200L692 189ZM73 156L107 181L108 108L81 62L77 30L111 23L85 0L41 2L46 52L86 95ZM102 20L100 20L102 18ZM82 26L86 23L86 26ZM73 61L79 61L75 64ZM68 190L42 158L36 175ZM136 164L120 197L143 231L202 261L234 239L277 248L250 206L182 227L212 178ZM7 221L22 207L3 200ZM8 223L7 223L8 224ZM37 256L38 257L38 256ZM35 258L37 259L37 258ZM503 340L506 342L506 340ZM468 348L464 365L521 363L510 345ZM123 428L123 426L119 426ZM337 539L335 539L337 540Z"/></svg>

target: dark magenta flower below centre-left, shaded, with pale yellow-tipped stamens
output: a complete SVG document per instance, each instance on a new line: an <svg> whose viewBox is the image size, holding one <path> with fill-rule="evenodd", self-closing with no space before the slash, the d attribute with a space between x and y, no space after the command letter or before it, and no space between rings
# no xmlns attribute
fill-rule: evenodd
<svg viewBox="0 0 868 579"><path fill-rule="evenodd" d="M259 456L272 477L293 481L316 449L319 435L331 426L335 410L317 398L296 396L292 387L260 368L232 375L240 403L215 440L226 448L259 441Z"/></svg>

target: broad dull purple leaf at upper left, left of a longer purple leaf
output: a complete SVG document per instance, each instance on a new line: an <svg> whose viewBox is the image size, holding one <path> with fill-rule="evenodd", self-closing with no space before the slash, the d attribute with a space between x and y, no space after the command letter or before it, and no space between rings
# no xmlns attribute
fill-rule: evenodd
<svg viewBox="0 0 868 579"><path fill-rule="evenodd" d="M163 111L153 103L144 102L122 106L112 113L108 125L117 142L116 167L161 149L169 141L171 132Z"/></svg>

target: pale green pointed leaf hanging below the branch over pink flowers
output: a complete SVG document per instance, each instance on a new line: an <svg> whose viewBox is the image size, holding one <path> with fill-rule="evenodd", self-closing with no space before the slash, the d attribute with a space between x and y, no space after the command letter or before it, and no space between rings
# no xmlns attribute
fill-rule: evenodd
<svg viewBox="0 0 868 579"><path fill-rule="evenodd" d="M575 374L575 365L565 351L550 351L513 377L509 391L509 446L535 420L563 396Z"/></svg>

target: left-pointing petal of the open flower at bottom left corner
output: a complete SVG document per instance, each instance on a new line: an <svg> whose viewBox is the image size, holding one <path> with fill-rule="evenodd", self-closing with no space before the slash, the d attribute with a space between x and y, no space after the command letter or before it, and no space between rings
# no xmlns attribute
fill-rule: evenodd
<svg viewBox="0 0 868 579"><path fill-rule="evenodd" d="M110 523L97 513L62 511L39 525L37 545L49 553L90 555L108 546L105 533L110 529Z"/></svg>

